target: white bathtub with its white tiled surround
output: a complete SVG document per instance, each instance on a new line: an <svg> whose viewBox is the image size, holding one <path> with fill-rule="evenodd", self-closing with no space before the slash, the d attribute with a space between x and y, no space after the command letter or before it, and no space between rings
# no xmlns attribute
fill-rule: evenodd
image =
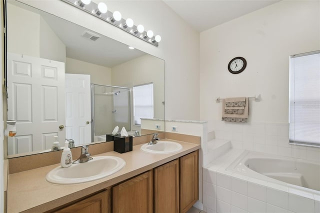
<svg viewBox="0 0 320 213"><path fill-rule="evenodd" d="M202 172L202 206L206 212L320 213L318 161L231 145Z"/></svg>

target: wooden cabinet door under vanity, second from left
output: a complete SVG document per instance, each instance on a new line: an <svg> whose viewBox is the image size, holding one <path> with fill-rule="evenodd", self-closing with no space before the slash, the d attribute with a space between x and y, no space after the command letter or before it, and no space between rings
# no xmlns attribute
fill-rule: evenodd
<svg viewBox="0 0 320 213"><path fill-rule="evenodd" d="M113 213L151 213L153 176L147 171L112 187Z"/></svg>

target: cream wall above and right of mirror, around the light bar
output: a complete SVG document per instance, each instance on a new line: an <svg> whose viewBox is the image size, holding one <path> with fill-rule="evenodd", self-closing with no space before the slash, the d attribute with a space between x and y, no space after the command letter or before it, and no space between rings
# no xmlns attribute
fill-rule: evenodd
<svg viewBox="0 0 320 213"><path fill-rule="evenodd" d="M21 1L164 59L166 118L199 118L199 34L161 0L102 0L110 11L160 34L158 47L60 0Z"/></svg>

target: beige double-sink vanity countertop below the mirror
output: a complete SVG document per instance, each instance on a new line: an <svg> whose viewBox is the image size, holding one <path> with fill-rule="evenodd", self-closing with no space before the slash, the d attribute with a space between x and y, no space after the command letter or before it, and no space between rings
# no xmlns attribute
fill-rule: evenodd
<svg viewBox="0 0 320 213"><path fill-rule="evenodd" d="M45 175L59 164L9 174L7 180L7 212L44 212L105 189L200 148L199 144L172 141L180 143L182 149L170 154L151 154L141 151L140 146L143 144L139 144L133 146L132 151L122 154L109 151L94 155L118 156L125 160L126 165L110 176L90 182L78 184L47 182Z"/></svg>

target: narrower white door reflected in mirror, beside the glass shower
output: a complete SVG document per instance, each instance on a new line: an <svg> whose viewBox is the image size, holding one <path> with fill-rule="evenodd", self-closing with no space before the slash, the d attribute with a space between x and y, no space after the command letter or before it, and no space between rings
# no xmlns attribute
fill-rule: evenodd
<svg viewBox="0 0 320 213"><path fill-rule="evenodd" d="M75 145L91 142L89 74L65 74L66 138Z"/></svg>

